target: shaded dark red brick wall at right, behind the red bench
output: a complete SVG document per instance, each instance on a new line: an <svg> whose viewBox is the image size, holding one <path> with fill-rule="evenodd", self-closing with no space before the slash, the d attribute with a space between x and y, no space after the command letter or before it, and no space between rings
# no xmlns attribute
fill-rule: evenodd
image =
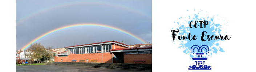
<svg viewBox="0 0 256 72"><path fill-rule="evenodd" d="M134 63L133 60L146 60L144 64L152 64L152 54L124 54L124 63ZM135 62L142 63L142 62Z"/></svg>

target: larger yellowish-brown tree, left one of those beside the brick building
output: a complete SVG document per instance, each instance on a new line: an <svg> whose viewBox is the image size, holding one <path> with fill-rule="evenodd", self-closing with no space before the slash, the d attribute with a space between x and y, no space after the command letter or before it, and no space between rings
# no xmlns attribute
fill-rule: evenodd
<svg viewBox="0 0 256 72"><path fill-rule="evenodd" d="M37 60L43 58L43 56L45 54L44 45L41 45L40 43L31 44L29 46L29 49L33 51L31 58L35 58ZM37 61L37 63L38 63L38 61Z"/></svg>

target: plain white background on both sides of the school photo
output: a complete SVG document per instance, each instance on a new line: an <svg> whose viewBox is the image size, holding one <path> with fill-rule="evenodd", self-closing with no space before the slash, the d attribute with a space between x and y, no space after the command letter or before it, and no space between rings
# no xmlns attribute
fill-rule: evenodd
<svg viewBox="0 0 256 72"><path fill-rule="evenodd" d="M255 7L254 1L152 1L153 72L256 72L255 65ZM0 69L15 72L16 53L16 1L0 2ZM185 16L184 10L210 9L229 22L227 34L230 40L223 44L224 53L214 54L207 60L212 70L188 70L187 55L173 44L171 28L174 20ZM225 45L224 45L225 44Z"/></svg>

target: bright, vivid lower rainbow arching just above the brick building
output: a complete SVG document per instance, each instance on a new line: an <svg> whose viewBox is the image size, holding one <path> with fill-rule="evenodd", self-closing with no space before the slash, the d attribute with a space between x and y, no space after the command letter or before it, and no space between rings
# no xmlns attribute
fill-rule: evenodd
<svg viewBox="0 0 256 72"><path fill-rule="evenodd" d="M130 32L127 32L125 30L122 30L120 28L116 28L116 27L113 27L113 26L107 26L107 25L103 25L103 24L94 24L94 23L82 23L82 24L72 24L72 25L68 25L68 26L64 26L64 27L60 27L60 28L56 28L52 31L49 31L49 32L46 32L44 34L42 34L41 36L38 36L36 39L30 41L27 45L25 45L23 48L21 48L21 50L25 50L25 48L29 48L29 46L31 44L33 44L34 42L54 33L54 32L57 32L57 31L61 31L61 30L65 30L65 29L68 29L68 28L74 28L74 27L84 27L84 26L93 26L93 27L103 27L103 28L109 28L109 29L112 29L112 30L116 30L116 31L119 31L119 32L122 32L122 33L125 33L126 35L129 35L135 39L137 39L138 41L142 42L143 44L145 44L146 41L142 40L141 38L133 35L132 33Z"/></svg>

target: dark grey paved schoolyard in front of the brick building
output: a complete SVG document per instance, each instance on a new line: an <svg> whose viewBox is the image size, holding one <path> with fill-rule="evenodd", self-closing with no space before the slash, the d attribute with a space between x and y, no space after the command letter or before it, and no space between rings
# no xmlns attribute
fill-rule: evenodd
<svg viewBox="0 0 256 72"><path fill-rule="evenodd" d="M125 69L108 69L82 66L29 65L16 66L17 72L149 72Z"/></svg>

